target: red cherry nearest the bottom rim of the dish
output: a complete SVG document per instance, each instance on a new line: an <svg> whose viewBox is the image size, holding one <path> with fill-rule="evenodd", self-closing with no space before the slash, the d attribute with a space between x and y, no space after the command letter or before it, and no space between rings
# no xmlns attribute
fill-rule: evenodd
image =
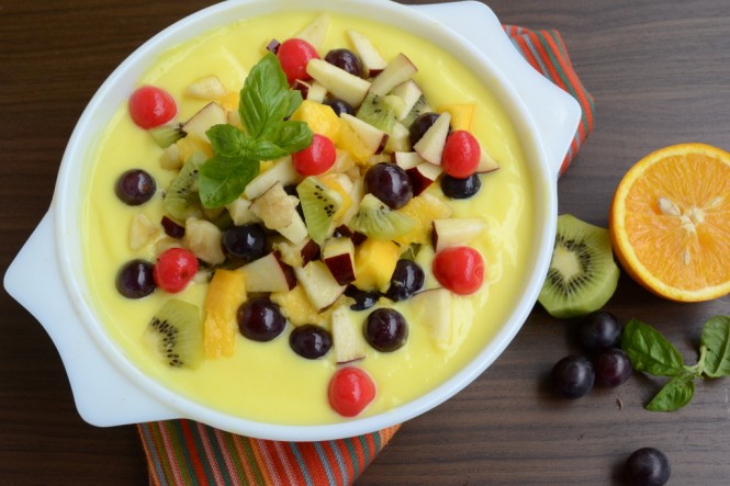
<svg viewBox="0 0 730 486"><path fill-rule="evenodd" d="M342 417L359 415L375 398L375 383L355 366L341 368L329 381L329 406Z"/></svg>

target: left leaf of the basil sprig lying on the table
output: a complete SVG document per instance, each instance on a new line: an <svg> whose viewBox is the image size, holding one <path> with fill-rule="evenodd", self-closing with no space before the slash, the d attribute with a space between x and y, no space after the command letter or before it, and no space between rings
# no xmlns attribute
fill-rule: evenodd
<svg viewBox="0 0 730 486"><path fill-rule="evenodd" d="M674 344L656 329L637 319L629 320L624 328L621 349L637 371L676 376L684 370L684 360Z"/></svg>

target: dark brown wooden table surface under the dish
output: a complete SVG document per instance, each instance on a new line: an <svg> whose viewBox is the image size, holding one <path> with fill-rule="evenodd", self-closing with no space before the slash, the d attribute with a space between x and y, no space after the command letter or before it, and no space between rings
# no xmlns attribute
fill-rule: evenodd
<svg viewBox="0 0 730 486"><path fill-rule="evenodd" d="M3 272L48 207L66 143L101 82L153 34L211 3L0 1ZM694 140L730 149L726 0L487 3L505 23L560 30L595 97L594 133L559 183L561 213L605 226L614 189L643 155ZM0 298L0 484L146 484L135 428L85 423L47 335L4 291ZM656 326L694 362L701 325L728 314L730 297L670 303L622 275L607 308ZM699 383L692 404L671 414L642 408L658 383L638 375L555 399L544 377L573 350L568 329L537 306L494 365L405 423L359 484L617 485L626 457L645 445L670 457L670 484L730 483L730 378Z"/></svg>

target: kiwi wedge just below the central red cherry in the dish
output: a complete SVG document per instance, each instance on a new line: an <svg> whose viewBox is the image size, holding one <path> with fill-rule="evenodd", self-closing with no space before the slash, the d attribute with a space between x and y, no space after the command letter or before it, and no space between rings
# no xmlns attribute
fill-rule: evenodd
<svg viewBox="0 0 730 486"><path fill-rule="evenodd" d="M329 235L335 214L342 205L342 196L314 176L300 182L296 193L302 204L306 230L314 241L322 245Z"/></svg>

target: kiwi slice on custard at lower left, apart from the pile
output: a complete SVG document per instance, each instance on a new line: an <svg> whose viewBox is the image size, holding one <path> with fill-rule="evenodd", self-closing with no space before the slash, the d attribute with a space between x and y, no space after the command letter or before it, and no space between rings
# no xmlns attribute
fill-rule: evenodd
<svg viewBox="0 0 730 486"><path fill-rule="evenodd" d="M159 359L173 368L196 368L203 360L203 321L198 306L171 298L157 310L145 339Z"/></svg>

